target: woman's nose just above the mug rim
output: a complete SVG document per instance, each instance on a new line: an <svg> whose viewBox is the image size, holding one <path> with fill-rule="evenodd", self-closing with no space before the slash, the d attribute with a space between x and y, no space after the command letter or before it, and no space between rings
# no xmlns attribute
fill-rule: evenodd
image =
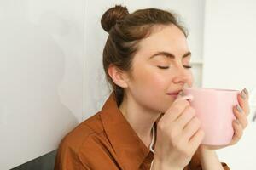
<svg viewBox="0 0 256 170"><path fill-rule="evenodd" d="M175 73L175 77L172 79L172 82L179 83L179 84L191 84L193 82L192 80L192 74L190 71L188 71L185 68L177 68L177 71Z"/></svg>

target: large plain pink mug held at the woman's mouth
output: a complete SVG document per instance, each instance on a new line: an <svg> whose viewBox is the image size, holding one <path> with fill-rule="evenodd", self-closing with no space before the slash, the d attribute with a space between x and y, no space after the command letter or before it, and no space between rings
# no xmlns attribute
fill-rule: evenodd
<svg viewBox="0 0 256 170"><path fill-rule="evenodd" d="M201 120L201 129L205 138L201 144L224 145L230 144L234 130L233 106L238 105L238 90L214 88L184 88L185 95L191 106L195 109L196 116Z"/></svg>

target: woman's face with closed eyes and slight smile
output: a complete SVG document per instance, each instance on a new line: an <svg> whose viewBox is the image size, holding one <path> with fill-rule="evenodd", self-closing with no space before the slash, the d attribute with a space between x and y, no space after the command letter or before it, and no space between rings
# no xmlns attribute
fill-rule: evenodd
<svg viewBox="0 0 256 170"><path fill-rule="evenodd" d="M139 42L126 93L148 111L166 112L185 85L192 86L191 54L177 26L156 26Z"/></svg>

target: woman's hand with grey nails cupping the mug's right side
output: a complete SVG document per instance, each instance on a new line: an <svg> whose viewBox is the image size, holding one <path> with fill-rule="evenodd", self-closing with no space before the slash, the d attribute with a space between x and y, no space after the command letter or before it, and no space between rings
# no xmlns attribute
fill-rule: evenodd
<svg viewBox="0 0 256 170"><path fill-rule="evenodd" d="M239 105L236 105L233 107L233 112L236 116L236 120L233 122L233 128L234 128L234 136L230 142L230 144L222 145L222 146L207 146L202 144L201 149L210 149L210 150L217 150L221 149L233 144L236 144L242 136L243 130L247 127L248 121L247 116L250 112L249 107L249 95L246 88L244 88L240 94L237 95L237 100Z"/></svg>

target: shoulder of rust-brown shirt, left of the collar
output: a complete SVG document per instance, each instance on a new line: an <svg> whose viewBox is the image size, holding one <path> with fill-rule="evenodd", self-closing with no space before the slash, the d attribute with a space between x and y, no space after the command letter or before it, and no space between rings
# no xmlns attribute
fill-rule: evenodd
<svg viewBox="0 0 256 170"><path fill-rule="evenodd" d="M55 159L57 166L64 167L70 162L72 166L83 164L93 169L116 167L114 160L117 158L104 131L100 114L98 112L80 123L61 140Z"/></svg>

